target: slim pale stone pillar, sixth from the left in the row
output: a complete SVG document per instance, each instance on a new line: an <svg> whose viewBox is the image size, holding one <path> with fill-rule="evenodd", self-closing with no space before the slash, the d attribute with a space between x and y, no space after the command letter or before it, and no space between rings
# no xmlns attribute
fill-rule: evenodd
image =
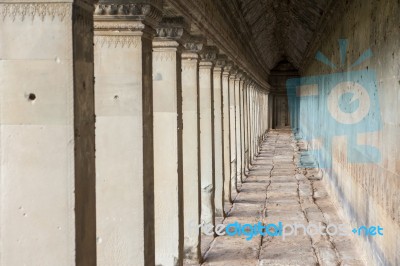
<svg viewBox="0 0 400 266"><path fill-rule="evenodd" d="M226 56L225 56L226 57ZM220 55L213 72L214 110L214 169L215 169L215 216L224 217L224 158L222 135L222 68L225 58Z"/></svg>

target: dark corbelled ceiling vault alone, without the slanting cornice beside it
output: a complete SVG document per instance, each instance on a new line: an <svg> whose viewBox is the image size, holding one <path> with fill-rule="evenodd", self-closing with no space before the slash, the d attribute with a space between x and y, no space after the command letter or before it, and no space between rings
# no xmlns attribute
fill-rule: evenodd
<svg viewBox="0 0 400 266"><path fill-rule="evenodd" d="M257 52L268 70L281 60L296 68L331 0L233 0L237 2Z"/></svg>

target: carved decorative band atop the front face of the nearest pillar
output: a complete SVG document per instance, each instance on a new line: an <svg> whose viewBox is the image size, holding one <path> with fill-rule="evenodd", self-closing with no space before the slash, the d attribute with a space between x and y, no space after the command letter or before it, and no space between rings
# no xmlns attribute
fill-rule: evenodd
<svg viewBox="0 0 400 266"><path fill-rule="evenodd" d="M42 21L46 17L50 17L54 20L55 17L61 21L65 17L71 17L72 15L72 4L67 3L0 3L0 14L5 21L10 18L12 21L19 19L24 21L25 18L30 18L32 21L35 18L40 18Z"/></svg>

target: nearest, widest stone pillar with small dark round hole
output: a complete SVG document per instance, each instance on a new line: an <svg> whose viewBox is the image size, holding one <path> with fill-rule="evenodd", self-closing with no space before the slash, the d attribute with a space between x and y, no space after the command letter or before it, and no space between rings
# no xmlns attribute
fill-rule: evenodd
<svg viewBox="0 0 400 266"><path fill-rule="evenodd" d="M96 265L93 2L74 2L0 3L0 265Z"/></svg>

